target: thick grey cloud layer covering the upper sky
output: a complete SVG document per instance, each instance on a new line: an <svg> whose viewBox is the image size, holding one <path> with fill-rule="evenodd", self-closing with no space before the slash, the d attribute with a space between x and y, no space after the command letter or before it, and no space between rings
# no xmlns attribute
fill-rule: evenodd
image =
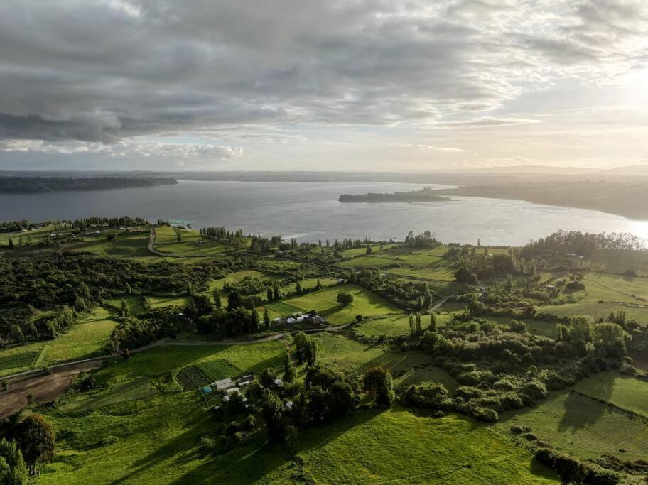
<svg viewBox="0 0 648 485"><path fill-rule="evenodd" d="M562 65L600 73L644 33L639 2L566 4L4 0L0 138L116 143L458 113L476 126L520 80L551 82Z"/></svg>

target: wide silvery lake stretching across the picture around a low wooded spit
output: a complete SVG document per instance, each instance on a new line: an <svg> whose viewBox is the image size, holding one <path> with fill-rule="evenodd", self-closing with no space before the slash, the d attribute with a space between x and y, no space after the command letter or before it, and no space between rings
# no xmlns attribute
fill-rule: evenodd
<svg viewBox="0 0 648 485"><path fill-rule="evenodd" d="M455 197L449 202L342 203L341 194L420 190L441 185L392 182L197 182L180 181L129 190L0 194L0 219L77 219L140 216L188 219L195 227L242 228L244 234L286 239L404 239L426 229L444 242L490 246L526 244L558 229L631 232L648 237L648 222L603 212L516 200Z"/></svg>

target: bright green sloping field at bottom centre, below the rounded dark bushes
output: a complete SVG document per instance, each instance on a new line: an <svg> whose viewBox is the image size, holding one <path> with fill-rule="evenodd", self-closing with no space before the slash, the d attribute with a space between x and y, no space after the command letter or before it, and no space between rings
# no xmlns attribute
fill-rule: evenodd
<svg viewBox="0 0 648 485"><path fill-rule="evenodd" d="M469 418L419 418L399 407L312 427L297 449L315 483L558 483L530 452Z"/></svg>

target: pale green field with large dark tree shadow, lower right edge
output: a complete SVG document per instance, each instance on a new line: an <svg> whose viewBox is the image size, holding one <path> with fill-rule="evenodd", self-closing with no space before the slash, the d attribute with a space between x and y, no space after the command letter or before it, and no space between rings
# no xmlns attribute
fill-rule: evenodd
<svg viewBox="0 0 648 485"><path fill-rule="evenodd" d="M531 427L534 435L558 451L573 452L583 459L605 453L622 459L645 459L648 449L646 420L571 391L552 393L533 408L500 413L495 427L508 431L512 425ZM627 452L620 453L620 449Z"/></svg>

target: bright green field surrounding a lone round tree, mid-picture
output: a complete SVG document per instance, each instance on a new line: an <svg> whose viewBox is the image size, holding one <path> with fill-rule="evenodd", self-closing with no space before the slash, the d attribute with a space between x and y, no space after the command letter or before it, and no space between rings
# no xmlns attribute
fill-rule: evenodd
<svg viewBox="0 0 648 485"><path fill-rule="evenodd" d="M347 291L353 295L353 303L347 307L338 305L338 293ZM303 311L317 310L333 325L350 323L355 320L355 315L374 316L396 313L399 310L384 298L357 285L335 285L320 291L308 293L284 300L284 303ZM285 316L285 315L282 315Z"/></svg>

